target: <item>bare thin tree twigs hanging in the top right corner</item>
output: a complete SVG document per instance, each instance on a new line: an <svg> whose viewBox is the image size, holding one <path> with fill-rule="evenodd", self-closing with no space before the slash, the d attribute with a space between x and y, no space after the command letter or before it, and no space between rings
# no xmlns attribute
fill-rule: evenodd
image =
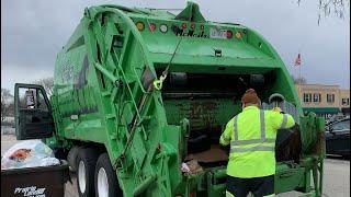
<svg viewBox="0 0 351 197"><path fill-rule="evenodd" d="M297 0L298 5L303 0ZM318 25L322 18L330 15L343 20L349 14L350 18L350 0L318 0Z"/></svg>

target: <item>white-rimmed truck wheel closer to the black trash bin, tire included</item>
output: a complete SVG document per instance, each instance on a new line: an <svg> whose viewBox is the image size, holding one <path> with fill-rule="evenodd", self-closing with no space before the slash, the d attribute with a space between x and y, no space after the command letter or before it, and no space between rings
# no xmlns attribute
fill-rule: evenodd
<svg viewBox="0 0 351 197"><path fill-rule="evenodd" d="M80 148L77 157L77 186L81 197L94 196L94 171L99 153L91 148Z"/></svg>

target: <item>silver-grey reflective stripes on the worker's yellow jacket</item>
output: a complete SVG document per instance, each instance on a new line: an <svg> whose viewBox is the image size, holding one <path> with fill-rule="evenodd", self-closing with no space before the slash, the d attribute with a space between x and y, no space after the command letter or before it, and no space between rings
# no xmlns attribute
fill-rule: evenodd
<svg viewBox="0 0 351 197"><path fill-rule="evenodd" d="M287 120L287 116L286 116ZM286 125L286 120L284 125ZM282 124L282 126L284 126ZM249 139L249 140L238 140L238 116L234 117L234 140L231 140L230 146L230 153L233 152L250 152L250 151L274 151L274 143L275 138L265 138L265 119L264 119L264 111L260 111L260 132L261 139ZM264 147L264 146L257 146L251 148L234 148L237 146L246 146L246 144L254 144L254 143L270 143L273 147ZM270 146L268 144L268 146Z"/></svg>

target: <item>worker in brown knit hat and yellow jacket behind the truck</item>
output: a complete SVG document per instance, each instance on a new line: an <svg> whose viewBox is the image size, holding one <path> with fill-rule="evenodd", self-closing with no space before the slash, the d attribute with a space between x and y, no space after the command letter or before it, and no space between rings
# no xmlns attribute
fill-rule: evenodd
<svg viewBox="0 0 351 197"><path fill-rule="evenodd" d="M227 165L227 197L274 196L275 138L278 129L295 125L281 108L260 109L253 89L241 97L242 112L227 124L219 143L230 143Z"/></svg>

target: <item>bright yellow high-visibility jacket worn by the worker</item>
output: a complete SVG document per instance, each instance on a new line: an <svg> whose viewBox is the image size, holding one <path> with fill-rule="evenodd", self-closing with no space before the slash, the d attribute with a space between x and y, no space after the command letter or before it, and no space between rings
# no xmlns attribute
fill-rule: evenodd
<svg viewBox="0 0 351 197"><path fill-rule="evenodd" d="M278 129L295 125L288 114L247 106L230 119L219 143L230 143L227 174L234 177L262 177L275 173L275 138Z"/></svg>

